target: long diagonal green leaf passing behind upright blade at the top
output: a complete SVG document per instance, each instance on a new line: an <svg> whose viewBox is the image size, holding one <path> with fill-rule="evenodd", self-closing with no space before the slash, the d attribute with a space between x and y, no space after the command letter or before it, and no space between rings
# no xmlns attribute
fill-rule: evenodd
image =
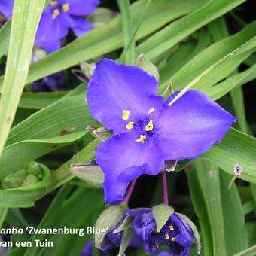
<svg viewBox="0 0 256 256"><path fill-rule="evenodd" d="M140 0L130 6L132 20L138 20L145 3L148 0ZM136 40L150 35L152 32L160 29L166 23L194 11L206 0L154 0L145 13L145 18L136 35ZM99 29L93 29L91 32L77 38L66 47L62 47L56 53L46 56L44 59L33 63L29 69L29 75L26 83L36 81L46 75L53 74L63 69L78 64L89 59L99 58L105 53L117 50L123 46L123 35L121 31L120 16L115 18ZM69 56L69 58L67 58ZM65 61L63 61L65 59ZM0 90L2 80L0 79Z"/></svg>

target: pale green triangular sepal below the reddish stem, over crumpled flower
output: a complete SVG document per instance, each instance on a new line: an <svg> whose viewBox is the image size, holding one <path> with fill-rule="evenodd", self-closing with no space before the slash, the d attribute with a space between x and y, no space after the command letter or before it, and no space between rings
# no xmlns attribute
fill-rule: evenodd
<svg viewBox="0 0 256 256"><path fill-rule="evenodd" d="M160 232L160 230L162 229L164 224L166 224L166 221L168 221L172 213L174 213L174 210L171 206L160 204L153 207L154 219L157 222L157 232Z"/></svg>

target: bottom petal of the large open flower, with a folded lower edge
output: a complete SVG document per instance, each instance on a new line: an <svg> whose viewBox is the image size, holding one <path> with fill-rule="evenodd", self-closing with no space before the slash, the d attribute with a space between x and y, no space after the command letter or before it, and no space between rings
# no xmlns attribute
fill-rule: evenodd
<svg viewBox="0 0 256 256"><path fill-rule="evenodd" d="M164 166L163 156L150 142L136 142L133 134L112 136L99 145L96 162L105 175L105 203L120 203L130 181L140 175L157 175Z"/></svg>

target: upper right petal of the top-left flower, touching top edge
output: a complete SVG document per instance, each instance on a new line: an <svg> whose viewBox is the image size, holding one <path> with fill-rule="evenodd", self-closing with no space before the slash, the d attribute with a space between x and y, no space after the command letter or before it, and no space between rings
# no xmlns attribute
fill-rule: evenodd
<svg viewBox="0 0 256 256"><path fill-rule="evenodd" d="M92 13L99 5L99 0L68 0L69 14L84 16Z"/></svg>

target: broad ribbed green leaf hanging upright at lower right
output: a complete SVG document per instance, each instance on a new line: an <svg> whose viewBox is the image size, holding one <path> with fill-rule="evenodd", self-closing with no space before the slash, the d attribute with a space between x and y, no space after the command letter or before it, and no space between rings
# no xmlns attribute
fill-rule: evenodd
<svg viewBox="0 0 256 256"><path fill-rule="evenodd" d="M248 246L242 203L230 175L206 160L188 170L190 194L203 232L205 254L230 255ZM239 232L237 232L239 230Z"/></svg>

